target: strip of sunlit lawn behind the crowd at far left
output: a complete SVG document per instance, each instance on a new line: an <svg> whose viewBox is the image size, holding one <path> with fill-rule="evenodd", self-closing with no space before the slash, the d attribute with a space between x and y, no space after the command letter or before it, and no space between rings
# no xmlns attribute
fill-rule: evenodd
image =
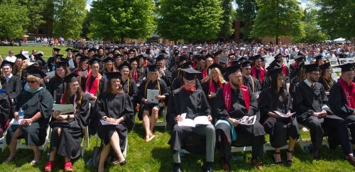
<svg viewBox="0 0 355 172"><path fill-rule="evenodd" d="M66 55L67 52L64 50L67 49L67 47L58 47L60 49L60 55ZM18 47L18 46L12 46L12 47L6 47L6 46L0 46L0 55L1 57L6 57L9 55L9 50L13 50L14 54L17 55L20 53L21 50L28 51L29 54L31 54L32 50L37 50L41 51L45 55L45 59L48 57L52 56L52 51L53 47L50 47L49 45L47 47L33 47L33 46L23 46L23 47Z"/></svg>

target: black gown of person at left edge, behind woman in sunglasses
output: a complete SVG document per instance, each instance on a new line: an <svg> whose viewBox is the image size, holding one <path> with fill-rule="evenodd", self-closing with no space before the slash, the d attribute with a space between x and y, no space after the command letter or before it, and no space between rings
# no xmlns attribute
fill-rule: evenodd
<svg viewBox="0 0 355 172"><path fill-rule="evenodd" d="M6 83L6 78L1 78L2 88L5 88L6 93L9 93L11 99L15 98L21 93L21 80L17 76L11 76L9 81Z"/></svg>

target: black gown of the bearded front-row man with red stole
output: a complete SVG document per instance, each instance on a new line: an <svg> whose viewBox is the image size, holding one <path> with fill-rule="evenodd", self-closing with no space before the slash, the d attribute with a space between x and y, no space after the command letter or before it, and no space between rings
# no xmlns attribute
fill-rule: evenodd
<svg viewBox="0 0 355 172"><path fill-rule="evenodd" d="M244 102L244 97L241 89L233 90L231 89L231 110L228 113L224 105L223 98L223 89L220 89L217 92L217 100L214 103L214 110L217 112L217 119L222 120L226 117L232 117L235 119L244 117L244 116L253 116L256 115L259 117L258 112L258 102L256 101L253 93L249 91L250 105L249 110L246 111L246 105ZM236 146L251 146L252 147L252 158L256 159L263 154L263 143L265 142L263 125L258 122L258 119L254 125L237 125L234 127L236 130ZM220 145L219 149L224 154L226 161L230 160L231 157L231 129L229 125L220 123L216 126L216 142ZM226 142L224 138L226 137Z"/></svg>

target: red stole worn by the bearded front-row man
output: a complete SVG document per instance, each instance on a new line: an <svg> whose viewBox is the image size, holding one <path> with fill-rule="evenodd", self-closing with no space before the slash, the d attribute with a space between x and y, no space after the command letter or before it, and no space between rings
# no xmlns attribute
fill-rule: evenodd
<svg viewBox="0 0 355 172"><path fill-rule="evenodd" d="M241 93L243 94L244 103L246 106L246 113L248 113L250 106L250 97L248 88L244 85L241 85ZM231 84L227 83L223 88L223 100L224 105L226 106L226 111L229 113L231 110Z"/></svg>

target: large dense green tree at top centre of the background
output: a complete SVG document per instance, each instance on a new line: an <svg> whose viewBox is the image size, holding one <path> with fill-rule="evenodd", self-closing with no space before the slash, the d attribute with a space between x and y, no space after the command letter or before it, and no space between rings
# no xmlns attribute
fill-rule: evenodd
<svg viewBox="0 0 355 172"><path fill-rule="evenodd" d="M161 0L157 31L169 40L214 40L222 13L220 0Z"/></svg>

